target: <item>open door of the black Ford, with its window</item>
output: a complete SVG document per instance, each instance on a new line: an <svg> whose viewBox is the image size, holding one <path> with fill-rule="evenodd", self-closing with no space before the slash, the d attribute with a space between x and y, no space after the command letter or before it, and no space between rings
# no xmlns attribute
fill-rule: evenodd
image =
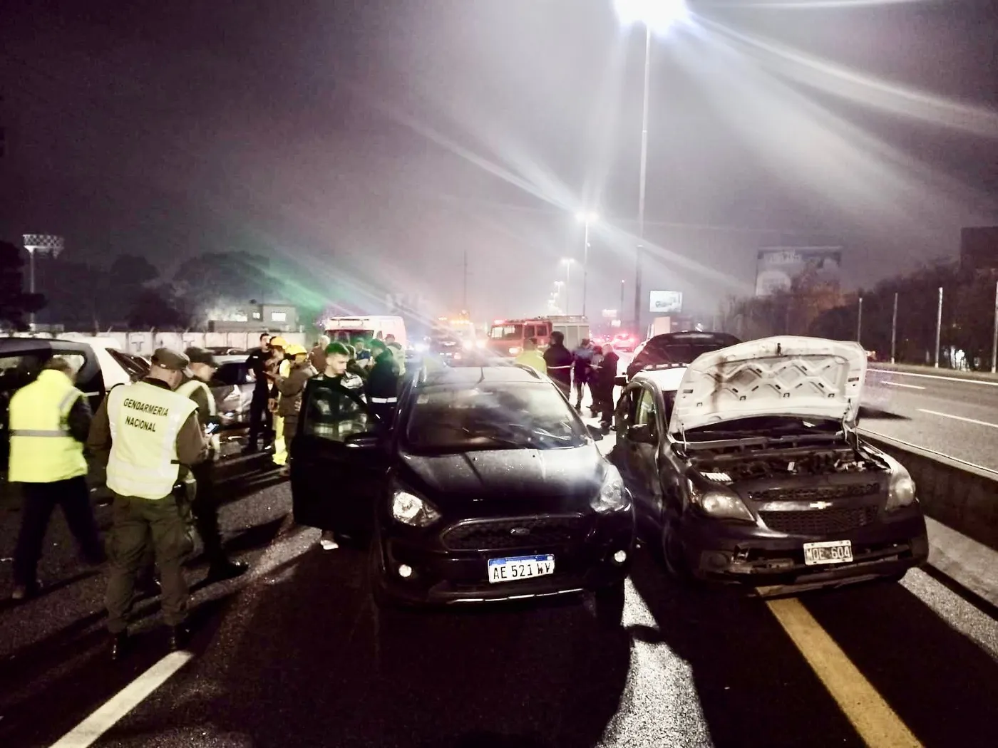
<svg viewBox="0 0 998 748"><path fill-rule="evenodd" d="M309 381L291 441L294 520L354 539L373 527L388 460L358 377Z"/></svg>

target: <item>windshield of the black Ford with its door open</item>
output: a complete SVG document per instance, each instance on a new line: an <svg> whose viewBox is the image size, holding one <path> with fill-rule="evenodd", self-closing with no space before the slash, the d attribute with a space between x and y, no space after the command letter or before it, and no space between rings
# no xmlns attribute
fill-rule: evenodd
<svg viewBox="0 0 998 748"><path fill-rule="evenodd" d="M428 387L405 430L411 452L581 447L588 433L550 382Z"/></svg>

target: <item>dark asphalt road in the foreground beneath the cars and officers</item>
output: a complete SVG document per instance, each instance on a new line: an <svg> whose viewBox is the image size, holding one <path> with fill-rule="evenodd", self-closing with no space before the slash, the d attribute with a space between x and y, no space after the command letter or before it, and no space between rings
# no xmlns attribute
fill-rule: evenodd
<svg viewBox="0 0 998 748"><path fill-rule="evenodd" d="M193 657L94 745L990 748L998 734L995 611L922 571L773 603L678 586L641 549L616 632L576 600L381 613L364 552L321 551L289 506L285 483L232 497L223 526L252 570L197 590ZM17 522L0 517L5 559ZM176 665L155 601L132 657L110 662L103 573L78 565L60 517L49 540L50 586L0 602L5 748L53 745ZM192 580L204 571L193 561ZM795 634L791 613L810 621Z"/></svg>

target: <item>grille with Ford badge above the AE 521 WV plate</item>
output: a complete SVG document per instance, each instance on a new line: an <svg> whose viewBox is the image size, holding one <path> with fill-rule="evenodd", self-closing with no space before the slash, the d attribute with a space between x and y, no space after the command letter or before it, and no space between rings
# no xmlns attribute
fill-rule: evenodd
<svg viewBox="0 0 998 748"><path fill-rule="evenodd" d="M440 540L451 551L492 551L562 545L585 533L586 519L582 515L513 517L454 525L443 532Z"/></svg>

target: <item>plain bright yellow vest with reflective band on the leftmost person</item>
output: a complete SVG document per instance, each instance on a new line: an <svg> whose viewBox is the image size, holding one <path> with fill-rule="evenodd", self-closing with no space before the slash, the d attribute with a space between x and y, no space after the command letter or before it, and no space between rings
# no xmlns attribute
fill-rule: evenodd
<svg viewBox="0 0 998 748"><path fill-rule="evenodd" d="M87 475L83 444L66 419L83 393L61 371L45 369L10 400L10 472L13 483L54 483Z"/></svg>

